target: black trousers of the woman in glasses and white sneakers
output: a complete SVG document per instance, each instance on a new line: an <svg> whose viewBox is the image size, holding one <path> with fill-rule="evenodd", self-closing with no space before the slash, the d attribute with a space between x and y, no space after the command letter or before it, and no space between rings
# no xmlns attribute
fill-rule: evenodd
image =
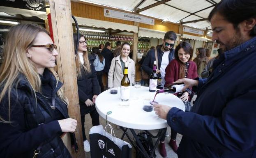
<svg viewBox="0 0 256 158"><path fill-rule="evenodd" d="M92 118L92 126L98 126L99 125L99 114L97 110L94 108L94 110L90 111L90 116ZM87 140L85 135L85 115L81 115L81 124L82 124L82 132L83 132L83 141Z"/></svg>

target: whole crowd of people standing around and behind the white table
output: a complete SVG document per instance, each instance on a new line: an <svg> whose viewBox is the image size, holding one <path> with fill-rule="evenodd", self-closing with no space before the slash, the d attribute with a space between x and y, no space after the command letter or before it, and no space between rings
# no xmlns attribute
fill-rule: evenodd
<svg viewBox="0 0 256 158"><path fill-rule="evenodd" d="M182 92L175 94L186 105L185 112L154 105L155 114L171 127L168 144L179 158L256 158L255 9L255 0L222 0L210 12L212 40L219 44L217 57L210 59L211 50L197 48L192 61L191 44L182 41L174 49L177 36L173 31L166 32L162 44L143 55L141 70L148 76L157 61L156 72L162 78L159 89L185 84ZM74 55L83 144L89 152L85 115L90 114L92 126L99 125L97 96L106 88L120 86L126 62L134 85L135 62L128 42L117 41L113 53L109 42L88 53L85 37L79 34L78 40L77 32L73 37L74 46L78 44ZM7 34L5 60L0 67L1 158L32 158L36 152L41 153L39 157L71 158L61 140L65 132L78 149L74 135L77 121L69 118L69 102L53 69L58 55L55 49L48 32L38 25L18 24ZM197 98L191 108L194 93ZM177 133L183 135L179 147ZM160 138L162 157L167 156L167 135Z"/></svg>

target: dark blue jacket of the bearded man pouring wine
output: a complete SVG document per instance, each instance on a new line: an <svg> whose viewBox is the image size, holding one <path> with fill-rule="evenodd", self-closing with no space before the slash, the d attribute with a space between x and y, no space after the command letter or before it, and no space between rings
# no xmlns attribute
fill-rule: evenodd
<svg viewBox="0 0 256 158"><path fill-rule="evenodd" d="M172 108L179 158L256 158L256 37L214 62L190 112Z"/></svg>

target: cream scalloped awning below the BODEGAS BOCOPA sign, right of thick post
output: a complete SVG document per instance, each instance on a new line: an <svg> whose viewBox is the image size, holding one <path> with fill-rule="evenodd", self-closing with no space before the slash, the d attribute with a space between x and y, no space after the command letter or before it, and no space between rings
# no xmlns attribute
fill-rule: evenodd
<svg viewBox="0 0 256 158"><path fill-rule="evenodd" d="M138 32L138 27L134 25L113 23L113 22L95 20L90 18L81 18L77 16L75 18L78 25L81 25L81 26L89 26L89 27L121 30L121 31L126 30L127 32L135 32L135 33Z"/></svg>

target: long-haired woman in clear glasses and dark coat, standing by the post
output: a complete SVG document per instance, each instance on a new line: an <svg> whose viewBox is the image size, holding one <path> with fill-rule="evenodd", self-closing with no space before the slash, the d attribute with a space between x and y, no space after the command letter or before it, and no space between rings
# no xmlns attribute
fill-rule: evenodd
<svg viewBox="0 0 256 158"><path fill-rule="evenodd" d="M80 103L80 114L83 132L83 146L85 152L90 152L90 143L85 135L85 114L90 113L92 126L99 125L99 114L95 109L95 100L100 94L99 82L93 64L94 58L88 55L87 41L82 34L74 33L74 46L78 43L78 53L76 55L76 76L78 86L78 97Z"/></svg>

